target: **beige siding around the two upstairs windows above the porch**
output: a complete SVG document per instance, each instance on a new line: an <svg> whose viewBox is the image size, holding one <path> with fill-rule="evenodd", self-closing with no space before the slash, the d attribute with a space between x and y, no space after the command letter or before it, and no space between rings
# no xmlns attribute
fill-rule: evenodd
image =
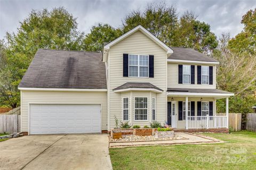
<svg viewBox="0 0 256 170"><path fill-rule="evenodd" d="M197 65L188 63L187 65L195 65L195 84L179 84L179 64L178 63L168 63L167 66L167 86L168 88L197 88L197 89L215 89L216 88L216 66L213 66L213 84L197 84ZM205 64L204 64L205 65Z"/></svg>

